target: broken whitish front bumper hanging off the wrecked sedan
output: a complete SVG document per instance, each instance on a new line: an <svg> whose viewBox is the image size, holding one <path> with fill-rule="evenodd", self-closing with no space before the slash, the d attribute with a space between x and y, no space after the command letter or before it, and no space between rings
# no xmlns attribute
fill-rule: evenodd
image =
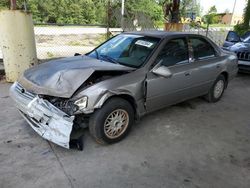
<svg viewBox="0 0 250 188"><path fill-rule="evenodd" d="M27 92L17 82L11 86L10 96L24 119L40 136L69 149L74 116L67 115L38 95Z"/></svg>

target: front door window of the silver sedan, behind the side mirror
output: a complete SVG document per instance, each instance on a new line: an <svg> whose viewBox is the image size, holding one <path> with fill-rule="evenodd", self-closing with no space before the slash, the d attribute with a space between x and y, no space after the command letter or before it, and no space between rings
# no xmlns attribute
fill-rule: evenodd
<svg viewBox="0 0 250 188"><path fill-rule="evenodd" d="M188 62L188 45L185 38L173 39L167 42L157 57L164 66L173 66Z"/></svg>

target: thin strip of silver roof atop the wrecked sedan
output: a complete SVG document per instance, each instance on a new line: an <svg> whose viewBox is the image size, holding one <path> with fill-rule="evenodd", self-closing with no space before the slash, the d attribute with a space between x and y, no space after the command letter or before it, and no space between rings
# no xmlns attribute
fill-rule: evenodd
<svg viewBox="0 0 250 188"><path fill-rule="evenodd" d="M157 38L166 38L170 36L199 36L202 35L186 33L186 32L169 32L169 31L132 31L132 32L124 32L124 34L133 34L133 35L142 35L142 36L149 36L149 37L157 37Z"/></svg>

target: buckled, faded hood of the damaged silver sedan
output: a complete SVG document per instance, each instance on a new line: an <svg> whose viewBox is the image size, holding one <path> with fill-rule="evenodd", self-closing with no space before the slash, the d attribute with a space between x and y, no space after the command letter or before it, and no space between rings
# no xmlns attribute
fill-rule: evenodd
<svg viewBox="0 0 250 188"><path fill-rule="evenodd" d="M133 68L88 56L42 63L26 70L18 82L30 92L70 98L95 71L129 71Z"/></svg>

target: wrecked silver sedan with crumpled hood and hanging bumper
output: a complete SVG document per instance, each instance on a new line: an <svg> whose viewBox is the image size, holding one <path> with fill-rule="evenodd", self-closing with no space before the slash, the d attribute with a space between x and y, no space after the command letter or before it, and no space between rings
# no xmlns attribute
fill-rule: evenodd
<svg viewBox="0 0 250 188"><path fill-rule="evenodd" d="M127 32L85 55L26 70L10 95L30 126L55 144L70 148L84 128L110 144L153 111L199 96L219 101L237 71L235 54L204 36Z"/></svg>

